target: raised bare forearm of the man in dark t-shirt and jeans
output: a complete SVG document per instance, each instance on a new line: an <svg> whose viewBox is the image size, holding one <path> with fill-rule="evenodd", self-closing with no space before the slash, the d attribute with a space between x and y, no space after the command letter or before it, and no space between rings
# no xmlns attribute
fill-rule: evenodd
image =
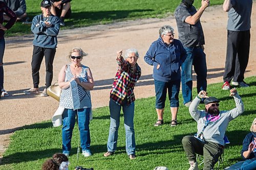
<svg viewBox="0 0 256 170"><path fill-rule="evenodd" d="M199 21L199 19L202 16L205 8L207 8L209 6L210 1L209 0L202 0L201 4L202 5L199 8L199 10L197 11L197 13L195 13L194 15L188 16L185 19L185 22L189 23L190 25L195 25Z"/></svg>

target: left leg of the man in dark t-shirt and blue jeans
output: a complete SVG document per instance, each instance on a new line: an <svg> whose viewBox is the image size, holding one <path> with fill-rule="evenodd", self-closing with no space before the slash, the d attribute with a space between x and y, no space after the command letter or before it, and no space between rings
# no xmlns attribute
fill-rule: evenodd
<svg viewBox="0 0 256 170"><path fill-rule="evenodd" d="M185 50L187 52L187 58L184 63L181 64L181 86L183 104L189 107L192 101L192 65L194 50L193 47L185 47Z"/></svg>

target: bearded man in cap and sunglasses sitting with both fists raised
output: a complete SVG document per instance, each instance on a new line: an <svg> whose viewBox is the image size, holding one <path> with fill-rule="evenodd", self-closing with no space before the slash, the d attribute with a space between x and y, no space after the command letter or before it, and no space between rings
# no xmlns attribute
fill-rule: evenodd
<svg viewBox="0 0 256 170"><path fill-rule="evenodd" d="M206 91L200 91L189 106L190 115L197 122L197 136L185 136L182 145L189 161L189 170L198 169L196 154L204 156L204 168L214 169L224 148L224 135L228 123L244 112L244 104L236 88L230 90L236 108L219 111L219 102L215 97L208 97ZM202 98L205 98L205 110L198 110Z"/></svg>

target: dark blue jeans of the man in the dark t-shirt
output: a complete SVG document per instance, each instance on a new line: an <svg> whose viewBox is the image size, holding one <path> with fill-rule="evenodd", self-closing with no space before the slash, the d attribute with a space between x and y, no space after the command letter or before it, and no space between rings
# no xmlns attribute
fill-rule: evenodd
<svg viewBox="0 0 256 170"><path fill-rule="evenodd" d="M181 86L183 104L192 101L192 65L197 74L197 92L206 91L207 67L204 51L201 47L185 47L187 58L181 65Z"/></svg>

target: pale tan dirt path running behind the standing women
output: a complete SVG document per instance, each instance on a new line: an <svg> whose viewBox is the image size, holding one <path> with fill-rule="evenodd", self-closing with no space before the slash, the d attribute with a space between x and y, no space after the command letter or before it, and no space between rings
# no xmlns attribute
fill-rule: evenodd
<svg viewBox="0 0 256 170"><path fill-rule="evenodd" d="M256 9L255 3L253 9ZM226 54L227 13L223 12L221 6L207 8L201 17L201 22L206 41L208 84L221 82ZM252 10L251 23L251 47L246 77L256 75L255 10ZM151 76L153 67L144 62L143 56L150 44L158 38L158 29L163 25L173 26L176 33L175 38L178 38L173 16L165 19L125 21L111 25L60 31L54 59L53 80L57 80L61 66L68 63L66 55L71 48L80 46L89 53L89 56L82 62L91 68L96 81L95 88L91 92L93 108L107 106L109 91L117 68L116 51L135 47L140 53L138 63L142 68L142 77L135 87L136 98L154 96L154 81ZM0 100L0 157L8 146L12 132L25 125L51 119L58 107L58 102L50 97L23 93L25 89L32 87L30 65L32 39L32 35L6 38L5 89L10 96ZM40 82L42 90L45 82L44 64L41 65Z"/></svg>

